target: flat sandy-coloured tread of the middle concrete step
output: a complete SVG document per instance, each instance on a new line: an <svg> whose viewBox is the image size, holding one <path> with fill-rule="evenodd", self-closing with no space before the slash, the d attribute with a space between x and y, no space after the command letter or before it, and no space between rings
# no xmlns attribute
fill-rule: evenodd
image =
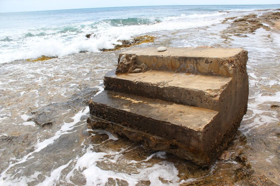
<svg viewBox="0 0 280 186"><path fill-rule="evenodd" d="M212 75L198 75L189 73L172 73L166 71L149 70L144 73L119 73L111 71L105 75L109 78L118 78L133 82L151 83L157 86L173 86L186 89L195 89L207 92L212 96L220 95L221 91L232 78Z"/></svg>

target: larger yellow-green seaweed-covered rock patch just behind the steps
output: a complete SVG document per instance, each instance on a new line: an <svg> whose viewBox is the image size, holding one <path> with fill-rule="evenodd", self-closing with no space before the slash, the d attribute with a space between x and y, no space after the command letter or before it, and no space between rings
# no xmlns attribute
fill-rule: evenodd
<svg viewBox="0 0 280 186"><path fill-rule="evenodd" d="M122 44L118 44L118 45L113 44L114 48L109 48L109 49L103 48L100 49L100 51L103 52L116 51L121 48L132 47L135 45L140 45L142 43L154 42L155 38L156 38L155 36L144 35L144 36L134 37L132 40L118 40L117 42L121 42Z"/></svg>

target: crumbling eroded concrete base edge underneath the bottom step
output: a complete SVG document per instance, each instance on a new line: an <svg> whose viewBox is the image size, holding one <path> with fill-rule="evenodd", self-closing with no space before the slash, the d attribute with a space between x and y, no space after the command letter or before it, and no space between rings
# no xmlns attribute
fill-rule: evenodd
<svg viewBox="0 0 280 186"><path fill-rule="evenodd" d="M239 125L237 124L237 126ZM114 122L109 122L99 117L95 117L92 115L88 117L87 127L90 129L102 129L105 131L109 131L115 137L127 137L134 142L141 143L143 145L143 148L145 148L146 150L165 151L167 153L175 154L178 157L192 161L202 167L211 166L212 163L216 160L216 157L222 153L227 143L234 137L234 135L232 134L235 134L233 131L230 131L228 133L229 136L226 140L226 143L219 147L215 155L212 154L215 156L213 161L207 162L205 161L205 157L197 156L197 152L195 152L195 149L190 149L191 147L178 143L176 140L163 139L159 136L151 135L137 129L127 128L125 126L119 125ZM234 130L237 130L237 128L238 127L236 127Z"/></svg>

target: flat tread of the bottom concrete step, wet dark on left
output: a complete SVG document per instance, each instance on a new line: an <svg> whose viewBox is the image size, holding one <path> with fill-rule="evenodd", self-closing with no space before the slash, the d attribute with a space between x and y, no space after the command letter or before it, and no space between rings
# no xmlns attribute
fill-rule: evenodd
<svg viewBox="0 0 280 186"><path fill-rule="evenodd" d="M143 117L200 131L218 114L217 111L175 104L168 101L104 90L90 104L103 104Z"/></svg>

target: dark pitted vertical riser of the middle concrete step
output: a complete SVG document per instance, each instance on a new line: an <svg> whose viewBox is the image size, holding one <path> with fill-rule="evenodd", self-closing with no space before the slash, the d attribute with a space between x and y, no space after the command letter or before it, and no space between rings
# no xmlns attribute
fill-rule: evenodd
<svg viewBox="0 0 280 186"><path fill-rule="evenodd" d="M186 89L174 86L158 86L144 82L133 82L119 78L104 78L106 90L124 92L145 96L147 98L160 99L178 104L195 106L218 111L220 100L205 94L204 91Z"/></svg>

